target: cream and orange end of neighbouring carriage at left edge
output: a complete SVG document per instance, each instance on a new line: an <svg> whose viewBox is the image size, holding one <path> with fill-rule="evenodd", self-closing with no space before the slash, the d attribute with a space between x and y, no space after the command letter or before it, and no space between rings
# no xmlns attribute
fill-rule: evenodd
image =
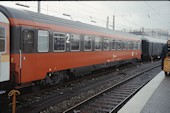
<svg viewBox="0 0 170 113"><path fill-rule="evenodd" d="M0 82L9 80L9 21L0 12Z"/></svg>

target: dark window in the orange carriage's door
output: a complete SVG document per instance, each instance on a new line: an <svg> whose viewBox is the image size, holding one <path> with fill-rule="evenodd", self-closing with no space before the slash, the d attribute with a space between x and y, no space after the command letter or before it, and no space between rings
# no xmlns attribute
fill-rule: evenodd
<svg viewBox="0 0 170 113"><path fill-rule="evenodd" d="M23 51L24 52L34 51L34 32L33 31L24 30Z"/></svg>

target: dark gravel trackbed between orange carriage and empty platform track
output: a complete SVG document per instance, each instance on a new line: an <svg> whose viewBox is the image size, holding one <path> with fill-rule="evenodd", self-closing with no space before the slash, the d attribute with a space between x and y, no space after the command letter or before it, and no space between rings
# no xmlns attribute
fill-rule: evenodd
<svg viewBox="0 0 170 113"><path fill-rule="evenodd" d="M159 62L155 62L152 65L158 65ZM139 65L139 64L138 64ZM136 72L141 72L140 70L145 70L148 67L151 67L151 64L141 64L139 67L136 67L135 65L129 65L128 67L131 67L130 75ZM55 113L61 113L62 111L66 110L67 108L77 104L77 101L83 101L87 97L96 94L96 92L99 92L103 89L106 89L106 87L116 84L125 78L128 78L130 75L128 74L129 68L123 67L123 69L120 69L119 71L110 71L104 72L102 74L105 74L104 76L91 78L91 80L85 80L85 81L79 81L80 83L75 83L73 86L68 85L67 87L62 87L63 89L58 88L50 88L49 90L43 90L38 92L36 95L28 95L29 98L23 99L23 103L21 100L19 100L19 104L22 103L22 106L20 105L17 108L17 113L51 113L51 111L46 111L45 109L53 109L56 107L57 104L57 110L55 110ZM110 73L110 74L108 74ZM108 74L108 75L107 75ZM98 74L99 76L99 74ZM89 79L90 77L87 77ZM102 89L97 89L97 87L102 86ZM93 91L93 89L97 89L98 91ZM87 92L90 94L82 95L83 92ZM92 93L91 93L92 92ZM80 96L77 96L80 95ZM77 98L81 98L80 100L76 100ZM69 100L69 102L67 101ZM70 102L70 100L73 100ZM73 104L73 105L72 105ZM5 112L7 113L7 112Z"/></svg>

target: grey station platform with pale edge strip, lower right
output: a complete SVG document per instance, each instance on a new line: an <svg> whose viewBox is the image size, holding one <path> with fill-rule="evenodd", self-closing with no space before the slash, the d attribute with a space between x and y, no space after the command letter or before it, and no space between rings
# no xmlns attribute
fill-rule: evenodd
<svg viewBox="0 0 170 113"><path fill-rule="evenodd" d="M170 113L170 76L161 71L118 113Z"/></svg>

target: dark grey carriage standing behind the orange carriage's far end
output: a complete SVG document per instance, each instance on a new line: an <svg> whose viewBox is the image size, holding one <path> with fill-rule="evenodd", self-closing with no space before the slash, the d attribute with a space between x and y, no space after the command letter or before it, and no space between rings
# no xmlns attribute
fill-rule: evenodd
<svg viewBox="0 0 170 113"><path fill-rule="evenodd" d="M142 59L160 58L162 48L167 40L141 36L142 40Z"/></svg>

